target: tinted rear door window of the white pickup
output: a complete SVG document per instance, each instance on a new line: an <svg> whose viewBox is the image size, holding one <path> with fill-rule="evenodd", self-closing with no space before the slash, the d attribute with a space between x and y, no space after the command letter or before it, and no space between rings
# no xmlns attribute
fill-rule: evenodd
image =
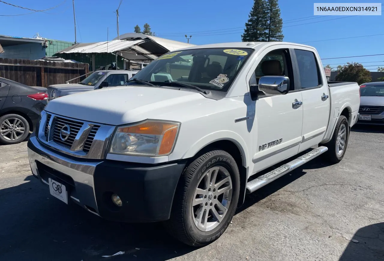
<svg viewBox="0 0 384 261"><path fill-rule="evenodd" d="M319 66L313 52L295 49L298 65L300 86L298 89L317 87L321 85Z"/></svg>

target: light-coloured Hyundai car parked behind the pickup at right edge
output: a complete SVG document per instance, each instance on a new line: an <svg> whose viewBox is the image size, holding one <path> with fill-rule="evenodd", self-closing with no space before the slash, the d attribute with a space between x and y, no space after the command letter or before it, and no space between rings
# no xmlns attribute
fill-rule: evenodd
<svg viewBox="0 0 384 261"><path fill-rule="evenodd" d="M359 113L358 123L384 125L384 82L360 85Z"/></svg>

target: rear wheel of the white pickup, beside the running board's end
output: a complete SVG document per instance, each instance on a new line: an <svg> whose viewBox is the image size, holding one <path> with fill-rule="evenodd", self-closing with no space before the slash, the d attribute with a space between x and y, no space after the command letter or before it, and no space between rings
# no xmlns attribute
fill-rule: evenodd
<svg viewBox="0 0 384 261"><path fill-rule="evenodd" d="M345 131L345 138L344 138L344 147L343 150L340 151L339 147L339 139L341 140L342 144L342 136L340 133ZM340 136L339 136L340 135ZM324 156L326 159L331 163L339 163L345 155L345 151L348 146L348 140L349 140L349 125L348 120L345 116L341 115L339 117L338 122L336 123L336 128L334 130L332 140L330 140L328 143L325 143L324 146L328 148L328 151L324 153ZM339 149L338 149L339 148Z"/></svg>

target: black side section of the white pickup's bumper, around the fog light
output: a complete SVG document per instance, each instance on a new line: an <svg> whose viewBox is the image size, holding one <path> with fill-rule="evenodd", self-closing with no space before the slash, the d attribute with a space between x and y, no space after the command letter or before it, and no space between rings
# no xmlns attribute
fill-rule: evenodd
<svg viewBox="0 0 384 261"><path fill-rule="evenodd" d="M121 222L156 222L169 219L175 189L185 161L152 164L103 161L94 173L98 213ZM111 199L117 194L122 207Z"/></svg>

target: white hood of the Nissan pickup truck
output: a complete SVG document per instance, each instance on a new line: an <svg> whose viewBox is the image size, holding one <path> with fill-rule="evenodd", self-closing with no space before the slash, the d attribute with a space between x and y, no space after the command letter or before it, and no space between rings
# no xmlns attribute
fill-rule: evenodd
<svg viewBox="0 0 384 261"><path fill-rule="evenodd" d="M188 90L131 85L56 98L45 110L84 121L122 125L148 118L166 120L161 118L164 113L212 101Z"/></svg>

